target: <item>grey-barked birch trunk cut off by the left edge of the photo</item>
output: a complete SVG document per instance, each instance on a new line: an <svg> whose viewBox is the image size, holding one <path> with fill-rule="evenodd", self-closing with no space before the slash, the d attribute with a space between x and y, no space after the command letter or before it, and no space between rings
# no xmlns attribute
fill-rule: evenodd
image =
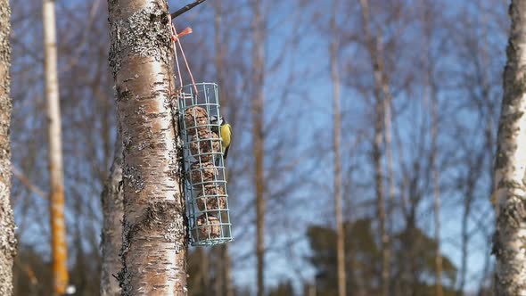
<svg viewBox="0 0 526 296"><path fill-rule="evenodd" d="M9 0L0 0L0 295L12 295L12 264L16 254L14 220L10 202L11 146L9 127L12 103L11 77L11 9Z"/></svg>

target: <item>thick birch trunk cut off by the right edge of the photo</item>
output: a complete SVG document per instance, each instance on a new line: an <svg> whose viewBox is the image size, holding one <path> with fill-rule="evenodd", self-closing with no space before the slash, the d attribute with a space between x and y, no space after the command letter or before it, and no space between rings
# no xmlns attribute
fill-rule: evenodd
<svg viewBox="0 0 526 296"><path fill-rule="evenodd" d="M526 1L512 0L494 173L496 294L526 295Z"/></svg>

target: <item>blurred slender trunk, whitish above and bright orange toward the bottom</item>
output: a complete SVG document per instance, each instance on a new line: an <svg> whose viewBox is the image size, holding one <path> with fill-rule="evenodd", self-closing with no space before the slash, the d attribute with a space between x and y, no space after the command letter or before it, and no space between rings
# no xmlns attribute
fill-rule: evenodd
<svg viewBox="0 0 526 296"><path fill-rule="evenodd" d="M53 254L53 292L66 292L68 246L64 219L64 172L62 169L62 127L57 70L57 44L54 0L44 0L45 101L47 105L48 158L50 178L51 251Z"/></svg>

